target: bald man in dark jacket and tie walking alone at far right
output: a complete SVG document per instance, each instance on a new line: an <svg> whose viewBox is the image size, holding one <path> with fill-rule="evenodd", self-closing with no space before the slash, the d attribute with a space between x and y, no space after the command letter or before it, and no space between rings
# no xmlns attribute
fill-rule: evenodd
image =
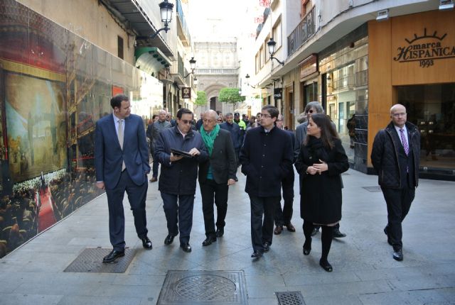
<svg viewBox="0 0 455 305"><path fill-rule="evenodd" d="M392 106L390 118L389 125L375 136L371 162L387 204L384 233L393 247L393 258L401 261L402 221L410 211L419 184L420 133L417 126L407 122L405 106Z"/></svg>

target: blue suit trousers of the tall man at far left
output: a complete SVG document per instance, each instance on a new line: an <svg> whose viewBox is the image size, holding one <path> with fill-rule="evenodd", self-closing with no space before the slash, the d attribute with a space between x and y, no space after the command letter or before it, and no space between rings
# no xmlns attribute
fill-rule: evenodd
<svg viewBox="0 0 455 305"><path fill-rule="evenodd" d="M145 179L145 181L147 181ZM134 226L137 236L144 238L147 235L147 221L145 214L145 199L149 184L134 184L127 170L120 175L119 183L114 189L106 189L107 206L109 207L109 238L114 250L123 251L125 248L125 216L123 211L123 197L128 195L129 205L133 211Z"/></svg>

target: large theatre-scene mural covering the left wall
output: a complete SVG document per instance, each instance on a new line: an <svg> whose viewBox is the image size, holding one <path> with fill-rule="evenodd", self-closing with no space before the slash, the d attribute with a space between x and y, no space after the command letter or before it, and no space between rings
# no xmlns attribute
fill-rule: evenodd
<svg viewBox="0 0 455 305"><path fill-rule="evenodd" d="M123 92L147 121L162 83L14 0L0 2L0 257L101 194L94 131ZM147 81L149 79L149 82ZM142 112L140 112L142 111Z"/></svg>

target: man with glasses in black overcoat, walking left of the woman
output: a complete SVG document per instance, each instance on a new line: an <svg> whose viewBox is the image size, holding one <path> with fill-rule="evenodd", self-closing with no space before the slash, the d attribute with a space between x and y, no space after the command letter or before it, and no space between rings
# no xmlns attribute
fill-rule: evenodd
<svg viewBox="0 0 455 305"><path fill-rule="evenodd" d="M262 107L261 126L247 131L240 150L242 173L247 176L245 192L250 196L251 257L255 258L272 245L274 209L280 204L282 179L292 171L294 160L291 136L274 126L278 114L277 107Z"/></svg>

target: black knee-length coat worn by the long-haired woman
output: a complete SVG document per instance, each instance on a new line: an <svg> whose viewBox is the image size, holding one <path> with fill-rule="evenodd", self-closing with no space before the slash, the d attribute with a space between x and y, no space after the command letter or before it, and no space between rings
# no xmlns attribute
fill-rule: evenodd
<svg viewBox="0 0 455 305"><path fill-rule="evenodd" d="M313 137L311 137L313 138ZM341 220L341 173L349 168L341 140L333 139L333 148L323 148L324 157L309 145L301 144L296 170L301 177L300 216L305 221L329 224ZM306 169L319 159L327 163L328 170L321 174L306 174Z"/></svg>

